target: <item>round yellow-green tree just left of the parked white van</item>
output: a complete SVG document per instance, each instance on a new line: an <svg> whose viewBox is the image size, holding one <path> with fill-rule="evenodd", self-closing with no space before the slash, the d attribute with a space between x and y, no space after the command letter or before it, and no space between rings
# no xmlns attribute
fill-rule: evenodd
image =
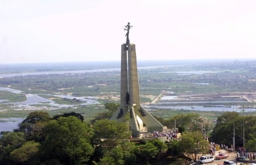
<svg viewBox="0 0 256 165"><path fill-rule="evenodd" d="M179 151L192 154L195 160L198 153L206 154L209 151L209 142L204 139L201 131L184 132L178 141Z"/></svg>

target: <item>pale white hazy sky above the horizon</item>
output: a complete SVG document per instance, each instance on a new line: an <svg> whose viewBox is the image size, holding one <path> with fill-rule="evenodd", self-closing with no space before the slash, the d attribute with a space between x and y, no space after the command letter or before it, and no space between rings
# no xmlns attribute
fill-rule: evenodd
<svg viewBox="0 0 256 165"><path fill-rule="evenodd" d="M0 0L0 64L256 58L256 0Z"/></svg>

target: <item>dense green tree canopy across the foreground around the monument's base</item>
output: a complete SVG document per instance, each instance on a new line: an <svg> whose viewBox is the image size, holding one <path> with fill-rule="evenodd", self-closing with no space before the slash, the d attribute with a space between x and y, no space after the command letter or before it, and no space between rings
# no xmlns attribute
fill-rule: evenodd
<svg viewBox="0 0 256 165"><path fill-rule="evenodd" d="M106 116L103 118L107 119L98 118L92 122L92 126L82 122L82 115L76 112L53 118L47 113L30 113L20 123L19 129L0 133L1 164L133 165L134 162L145 163L163 157L166 145L157 139L143 139L143 143L138 145L128 143L131 135L128 124L108 118L119 105L106 103L105 106L111 109L104 112ZM203 130L211 129L209 120L197 114L179 114L168 120L159 119L169 128L175 127L176 121L176 127L184 129L180 138L166 142L166 155L177 158L176 164L187 163L178 159L185 152L191 154L193 159L198 153L208 153L209 142L204 140ZM231 145L235 126L236 146L242 146L244 126L245 147L247 151L255 151L255 123L255 116L224 112L218 117L210 138L215 143Z"/></svg>

